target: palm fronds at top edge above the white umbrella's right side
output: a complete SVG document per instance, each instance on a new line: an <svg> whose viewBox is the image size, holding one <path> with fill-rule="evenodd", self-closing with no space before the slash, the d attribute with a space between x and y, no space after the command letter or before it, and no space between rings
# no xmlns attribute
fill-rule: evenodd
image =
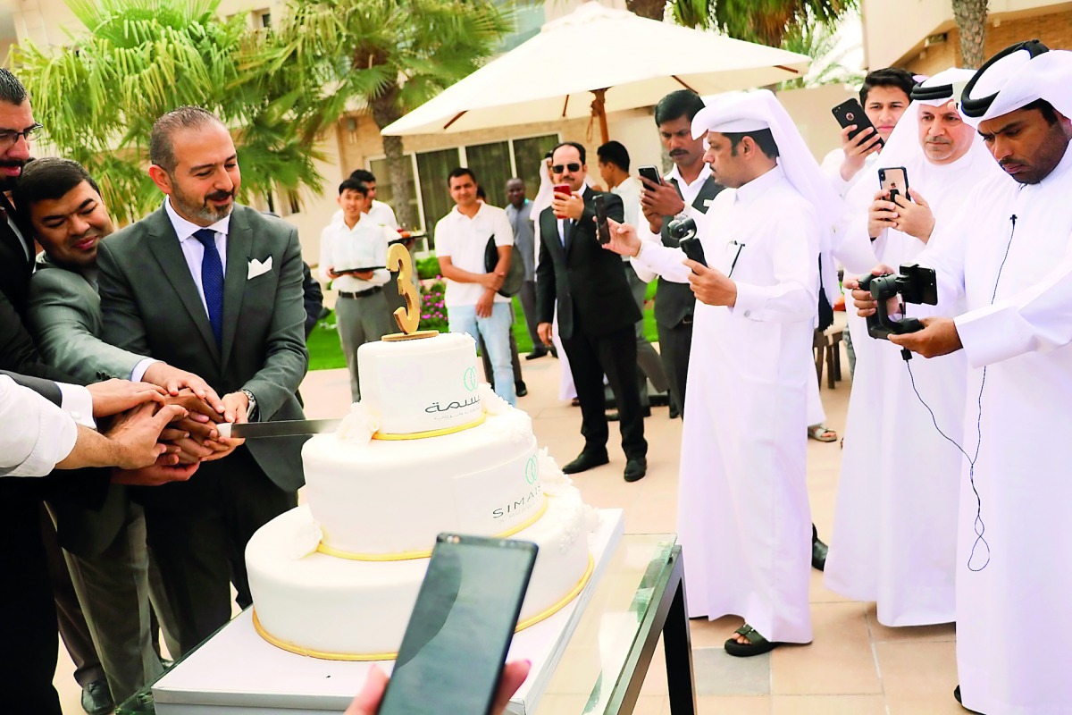
<svg viewBox="0 0 1072 715"><path fill-rule="evenodd" d="M771 47L780 47L790 28L816 21L832 26L855 8L857 0L670 0L679 25L715 27Z"/></svg>

